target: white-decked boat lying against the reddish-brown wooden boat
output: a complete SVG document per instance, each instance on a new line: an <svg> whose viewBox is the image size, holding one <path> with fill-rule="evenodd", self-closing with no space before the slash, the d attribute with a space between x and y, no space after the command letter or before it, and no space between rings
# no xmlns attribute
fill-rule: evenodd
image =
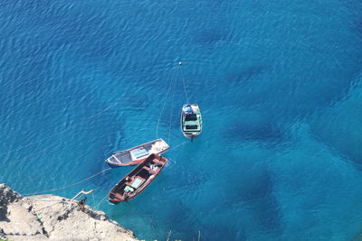
<svg viewBox="0 0 362 241"><path fill-rule="evenodd" d="M127 150L113 153L105 162L107 162L110 167L136 165L145 161L152 153L166 153L168 148L169 145L159 138L146 144L140 144Z"/></svg>

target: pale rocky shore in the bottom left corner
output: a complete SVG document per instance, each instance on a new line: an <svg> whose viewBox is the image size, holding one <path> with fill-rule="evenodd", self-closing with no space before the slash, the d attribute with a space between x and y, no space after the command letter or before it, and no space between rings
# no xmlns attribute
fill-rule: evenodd
<svg viewBox="0 0 362 241"><path fill-rule="evenodd" d="M24 198L0 184L0 240L138 240L102 211L54 195Z"/></svg>

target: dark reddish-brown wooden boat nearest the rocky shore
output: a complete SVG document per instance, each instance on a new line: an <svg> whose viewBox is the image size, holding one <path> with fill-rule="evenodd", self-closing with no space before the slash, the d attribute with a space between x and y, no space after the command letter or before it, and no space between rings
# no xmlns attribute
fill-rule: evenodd
<svg viewBox="0 0 362 241"><path fill-rule="evenodd" d="M167 159L158 154L151 154L140 163L133 171L130 171L116 186L110 190L108 195L110 202L119 203L135 198L149 183L154 181L158 173L162 171Z"/></svg>

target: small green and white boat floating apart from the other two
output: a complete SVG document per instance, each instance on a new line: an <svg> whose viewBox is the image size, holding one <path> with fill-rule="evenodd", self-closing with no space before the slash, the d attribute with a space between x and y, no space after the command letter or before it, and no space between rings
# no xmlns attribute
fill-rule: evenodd
<svg viewBox="0 0 362 241"><path fill-rule="evenodd" d="M185 104L181 110L181 131L188 138L195 138L203 131L203 119L196 104Z"/></svg>

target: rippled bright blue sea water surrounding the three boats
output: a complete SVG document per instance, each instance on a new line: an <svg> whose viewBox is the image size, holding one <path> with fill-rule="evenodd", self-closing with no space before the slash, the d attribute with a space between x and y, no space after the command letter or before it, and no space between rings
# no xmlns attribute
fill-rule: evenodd
<svg viewBox="0 0 362 241"><path fill-rule="evenodd" d="M169 162L137 199L100 202L130 167L53 193L96 189L89 204L147 240L350 240L361 13L357 0L3 0L0 182L32 193L106 169L156 138L166 99ZM179 130L180 71L204 117L194 142Z"/></svg>

